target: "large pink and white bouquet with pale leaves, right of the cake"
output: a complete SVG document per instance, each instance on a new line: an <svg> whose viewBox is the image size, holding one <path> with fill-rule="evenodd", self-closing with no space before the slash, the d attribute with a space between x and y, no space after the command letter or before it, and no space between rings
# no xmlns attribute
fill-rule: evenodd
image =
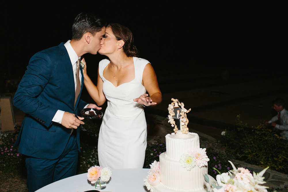
<svg viewBox="0 0 288 192"><path fill-rule="evenodd" d="M227 173L220 173L216 176L216 182L210 181L208 175L204 175L205 181L209 183L206 185L208 191L210 192L267 192L267 188L262 184L266 183L263 181L263 174L269 168L265 168L259 173L253 172L253 175L248 169L243 167L236 167L234 164L229 161L233 167L233 170L228 171Z"/></svg>

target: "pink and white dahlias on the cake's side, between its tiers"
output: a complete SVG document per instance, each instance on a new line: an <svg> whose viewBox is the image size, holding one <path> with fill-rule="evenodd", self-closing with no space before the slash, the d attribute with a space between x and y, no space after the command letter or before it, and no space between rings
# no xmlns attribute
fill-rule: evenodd
<svg viewBox="0 0 288 192"><path fill-rule="evenodd" d="M206 155L206 148L192 148L188 150L188 154L181 155L180 163L183 168L186 167L187 170L191 170L196 165L198 167L208 166L208 161L210 160Z"/></svg>

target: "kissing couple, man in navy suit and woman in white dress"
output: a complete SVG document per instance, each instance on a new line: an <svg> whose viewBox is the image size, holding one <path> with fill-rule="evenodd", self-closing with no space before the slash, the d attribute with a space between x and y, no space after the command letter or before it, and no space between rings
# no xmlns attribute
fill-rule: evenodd
<svg viewBox="0 0 288 192"><path fill-rule="evenodd" d="M94 85L81 56L97 52L108 58L99 63ZM14 106L26 113L14 147L19 145L18 152L26 157L30 192L76 174L79 125L84 124L79 112L100 110L106 99L98 140L100 166L143 167L147 144L143 108L159 104L162 94L152 65L137 54L127 27L80 13L71 41L31 57L13 99ZM98 106L80 99L83 85Z"/></svg>

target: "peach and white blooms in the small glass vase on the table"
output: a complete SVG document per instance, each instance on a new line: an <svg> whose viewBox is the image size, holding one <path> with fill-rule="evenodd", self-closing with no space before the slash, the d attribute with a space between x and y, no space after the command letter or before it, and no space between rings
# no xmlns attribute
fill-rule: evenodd
<svg viewBox="0 0 288 192"><path fill-rule="evenodd" d="M108 169L108 167L102 167L102 166L92 166L88 169L87 178L91 183L96 183L98 178L100 178L102 181L109 181L111 177L111 170Z"/></svg>

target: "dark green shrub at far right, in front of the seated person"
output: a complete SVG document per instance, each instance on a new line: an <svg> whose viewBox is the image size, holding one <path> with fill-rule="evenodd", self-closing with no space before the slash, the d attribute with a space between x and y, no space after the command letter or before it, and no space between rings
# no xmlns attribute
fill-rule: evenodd
<svg viewBox="0 0 288 192"><path fill-rule="evenodd" d="M257 127L247 127L237 116L236 131L226 131L221 141L226 146L226 153L234 155L237 160L261 167L269 166L284 174L288 173L287 140L278 136L278 129L260 123Z"/></svg>

